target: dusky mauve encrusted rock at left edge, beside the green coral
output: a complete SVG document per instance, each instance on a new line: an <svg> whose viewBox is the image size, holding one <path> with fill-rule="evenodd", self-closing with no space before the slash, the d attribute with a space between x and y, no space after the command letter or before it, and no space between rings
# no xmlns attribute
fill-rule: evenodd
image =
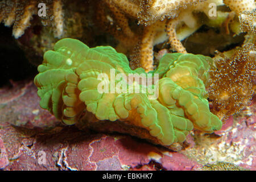
<svg viewBox="0 0 256 182"><path fill-rule="evenodd" d="M0 88L0 122L7 119L15 126L29 129L47 129L59 123L39 106L38 100L35 100L38 96L32 81L11 83L12 86Z"/></svg>

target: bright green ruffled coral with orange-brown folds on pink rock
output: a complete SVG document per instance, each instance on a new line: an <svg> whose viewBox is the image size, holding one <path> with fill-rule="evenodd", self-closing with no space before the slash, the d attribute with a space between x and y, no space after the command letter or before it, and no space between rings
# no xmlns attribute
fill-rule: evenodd
<svg viewBox="0 0 256 182"><path fill-rule="evenodd" d="M129 75L142 79L141 75L145 75L148 79L149 74L141 68L131 70L126 56L112 47L89 48L79 40L62 39L54 50L44 54L34 82L42 99L40 106L67 125L90 112L97 118L96 122L118 119L145 129L164 146L183 142L193 127L212 133L222 126L220 119L210 113L206 99L205 85L213 64L210 57L165 55L151 72L154 78L156 75L160 78L159 82L154 79L151 85L155 92L159 91L159 97L151 97L152 90L146 88L143 92L145 85L135 77L135 81L130 80ZM102 73L103 80L98 77ZM123 74L118 79L119 73ZM130 92L134 85L141 92ZM100 92L99 88L107 92Z"/></svg>

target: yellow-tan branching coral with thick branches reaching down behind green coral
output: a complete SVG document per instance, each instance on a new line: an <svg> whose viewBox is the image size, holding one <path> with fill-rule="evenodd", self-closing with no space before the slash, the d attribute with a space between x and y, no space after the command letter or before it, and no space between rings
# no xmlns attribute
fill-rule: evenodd
<svg viewBox="0 0 256 182"><path fill-rule="evenodd" d="M153 47L156 44L168 41L171 48L174 51L180 53L186 53L184 46L180 40L183 40L188 35L195 32L201 25L202 21L195 13L203 12L209 19L212 17L209 14L210 3L214 3L216 6L223 5L222 1L208 0L208 1L105 1L112 10L112 18L114 22L117 22L120 30L117 33L116 30L112 31L114 36L121 42L130 45L138 42L137 46L131 55L131 68L135 69L142 67L148 71L154 69L154 55ZM125 8L126 7L126 8ZM129 8L134 7L130 12ZM117 11L119 9L119 11ZM220 12L217 12L217 16ZM137 16L136 16L137 14ZM228 16L228 14L221 14L222 16ZM104 15L103 15L104 16ZM101 17L103 17L101 16ZM137 19L139 27L142 27L141 34L127 34L131 29L128 28L128 19ZM222 18L225 20L225 18ZM100 21L99 21L100 22ZM121 23L118 23L121 22ZM221 21L218 20L219 24ZM112 26L116 27L116 26ZM137 28L138 29L138 28ZM128 30L128 31L127 31ZM179 30L179 33L177 33ZM180 31L181 30L181 31ZM120 32L123 35L119 34ZM138 41L140 40L140 41Z"/></svg>

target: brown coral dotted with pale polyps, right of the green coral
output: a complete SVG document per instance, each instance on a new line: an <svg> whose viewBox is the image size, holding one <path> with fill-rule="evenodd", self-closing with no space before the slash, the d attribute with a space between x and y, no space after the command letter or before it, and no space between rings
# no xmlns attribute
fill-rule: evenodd
<svg viewBox="0 0 256 182"><path fill-rule="evenodd" d="M250 104L256 71L256 48L248 43L238 49L232 58L216 61L217 69L210 71L209 98L212 112L226 119Z"/></svg>

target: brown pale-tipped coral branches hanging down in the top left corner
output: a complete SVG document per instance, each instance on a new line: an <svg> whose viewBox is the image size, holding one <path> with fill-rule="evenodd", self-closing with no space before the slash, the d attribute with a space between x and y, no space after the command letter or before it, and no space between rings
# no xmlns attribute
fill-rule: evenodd
<svg viewBox="0 0 256 182"><path fill-rule="evenodd" d="M5 26L13 25L13 35L17 39L24 34L30 26L33 15L38 14L39 0L3 0L0 2L0 23ZM46 17L42 16L43 24L51 24L55 29L55 36L61 38L63 35L63 3L61 0L46 1ZM52 23L49 23L52 22Z"/></svg>

